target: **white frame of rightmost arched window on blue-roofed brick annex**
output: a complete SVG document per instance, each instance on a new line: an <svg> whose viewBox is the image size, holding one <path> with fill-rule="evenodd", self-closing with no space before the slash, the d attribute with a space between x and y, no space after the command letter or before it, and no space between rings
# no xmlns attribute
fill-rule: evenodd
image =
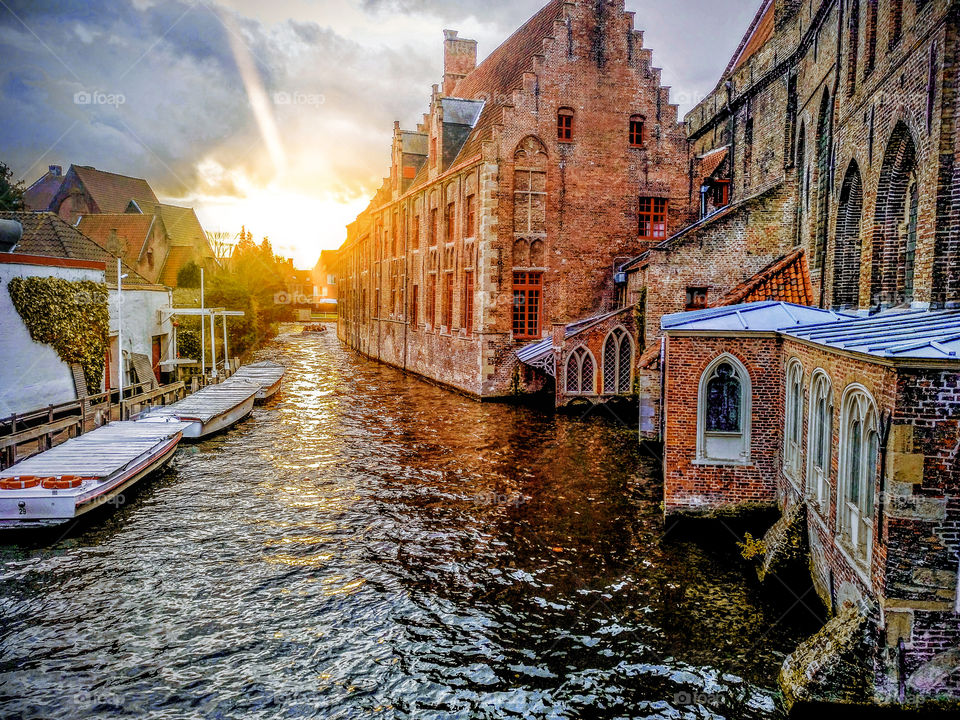
<svg viewBox="0 0 960 720"><path fill-rule="evenodd" d="M868 574L873 561L874 515L876 514L876 485L879 465L880 418L877 403L870 391L859 383L848 385L843 391L840 411L840 476L837 482L837 538L851 557L860 563ZM854 421L861 422L860 484L857 503L849 499L852 472L849 443ZM870 435L876 435L876 452L871 457ZM869 495L867 493L869 491ZM870 517L864 517L870 498Z"/></svg>

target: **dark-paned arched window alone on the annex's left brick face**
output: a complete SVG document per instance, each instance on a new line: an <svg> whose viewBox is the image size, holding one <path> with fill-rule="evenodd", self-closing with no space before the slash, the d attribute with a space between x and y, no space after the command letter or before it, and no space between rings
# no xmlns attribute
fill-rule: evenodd
<svg viewBox="0 0 960 720"><path fill-rule="evenodd" d="M700 377L697 459L722 464L750 462L751 382L743 364L724 354Z"/></svg>

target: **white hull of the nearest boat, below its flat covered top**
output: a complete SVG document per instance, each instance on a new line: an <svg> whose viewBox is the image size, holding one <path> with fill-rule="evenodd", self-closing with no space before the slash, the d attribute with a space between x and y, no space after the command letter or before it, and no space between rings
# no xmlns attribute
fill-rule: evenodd
<svg viewBox="0 0 960 720"><path fill-rule="evenodd" d="M97 508L122 505L124 491L170 462L180 438L178 433L154 451L134 460L115 477L92 487L23 492L4 490L0 494L0 531L58 527Z"/></svg>

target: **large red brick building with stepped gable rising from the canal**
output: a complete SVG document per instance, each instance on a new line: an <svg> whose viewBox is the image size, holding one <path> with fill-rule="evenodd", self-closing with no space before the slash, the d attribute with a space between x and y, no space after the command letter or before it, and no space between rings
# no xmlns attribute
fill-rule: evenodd
<svg viewBox="0 0 960 720"><path fill-rule="evenodd" d="M616 310L616 267L693 219L642 39L622 0L552 0L479 65L446 31L443 84L340 250L341 339L481 397L551 383L514 351Z"/></svg>

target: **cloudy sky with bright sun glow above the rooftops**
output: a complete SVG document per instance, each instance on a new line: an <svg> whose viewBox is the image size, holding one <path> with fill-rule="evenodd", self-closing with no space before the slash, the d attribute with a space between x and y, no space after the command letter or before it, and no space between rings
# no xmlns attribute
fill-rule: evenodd
<svg viewBox="0 0 960 720"><path fill-rule="evenodd" d="M309 268L388 172L393 121L427 109L442 29L482 58L543 2L0 0L0 160L26 185L48 165L146 178ZM759 0L626 4L685 112Z"/></svg>

